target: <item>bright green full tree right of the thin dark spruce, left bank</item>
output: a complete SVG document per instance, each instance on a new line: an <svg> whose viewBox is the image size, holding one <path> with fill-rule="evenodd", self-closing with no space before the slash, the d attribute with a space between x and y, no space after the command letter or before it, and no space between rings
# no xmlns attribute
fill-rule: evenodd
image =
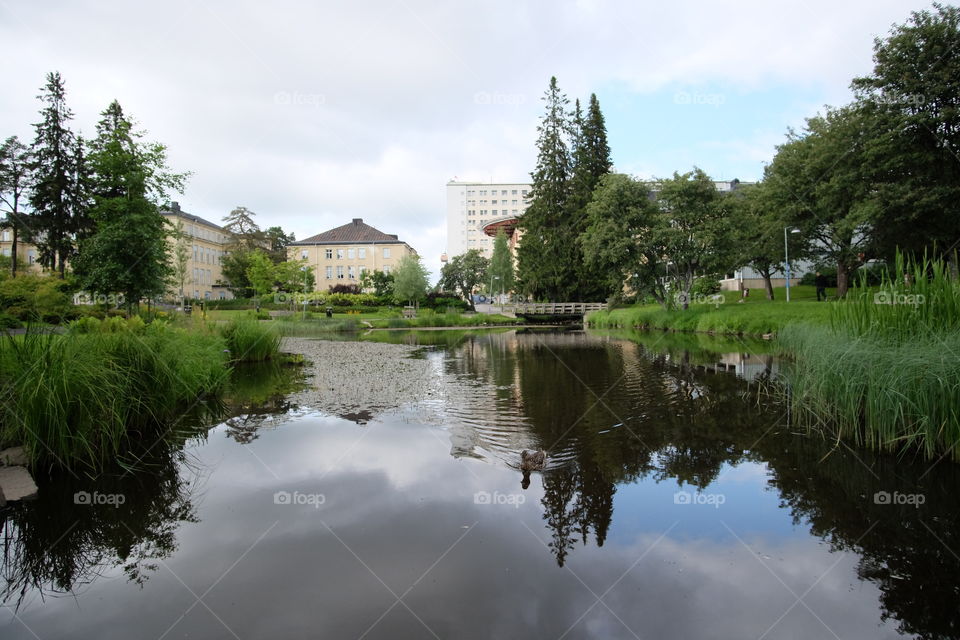
<svg viewBox="0 0 960 640"><path fill-rule="evenodd" d="M163 145L140 141L117 101L101 116L88 157L96 231L80 241L74 271L87 291L122 294L131 307L163 294L173 275L155 199L181 188L184 176L169 172Z"/></svg>

